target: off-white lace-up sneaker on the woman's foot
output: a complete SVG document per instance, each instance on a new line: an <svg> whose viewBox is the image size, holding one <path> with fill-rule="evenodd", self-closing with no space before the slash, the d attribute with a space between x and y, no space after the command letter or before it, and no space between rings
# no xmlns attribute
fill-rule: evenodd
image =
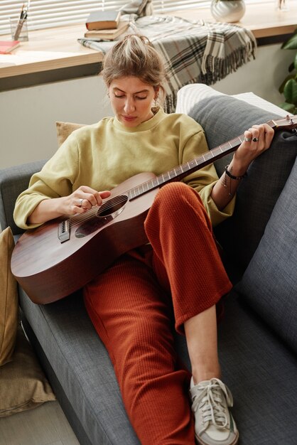
<svg viewBox="0 0 297 445"><path fill-rule="evenodd" d="M239 433L229 412L233 398L227 386L217 378L194 385L192 377L190 395L198 444L236 445Z"/></svg>

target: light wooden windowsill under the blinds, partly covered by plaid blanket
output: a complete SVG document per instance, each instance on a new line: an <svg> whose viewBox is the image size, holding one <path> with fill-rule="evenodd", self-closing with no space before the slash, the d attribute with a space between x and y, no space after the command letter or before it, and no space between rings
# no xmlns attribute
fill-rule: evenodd
<svg viewBox="0 0 297 445"><path fill-rule="evenodd" d="M209 9L174 11L171 15L214 21ZM295 31L296 23L297 1L291 1L290 11L284 12L267 4L247 5L237 24L252 31L259 44L268 44L276 38L284 41ZM85 24L29 31L28 42L11 54L0 55L0 91L99 73L103 55L77 42L84 33Z"/></svg>

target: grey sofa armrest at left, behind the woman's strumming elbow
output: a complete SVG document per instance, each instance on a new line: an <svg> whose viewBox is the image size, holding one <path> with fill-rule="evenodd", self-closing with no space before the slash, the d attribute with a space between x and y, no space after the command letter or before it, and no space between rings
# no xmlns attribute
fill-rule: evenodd
<svg viewBox="0 0 297 445"><path fill-rule="evenodd" d="M22 233L13 221L13 209L18 195L28 187L31 176L40 171L45 160L24 163L0 170L0 226L11 227L13 235Z"/></svg>

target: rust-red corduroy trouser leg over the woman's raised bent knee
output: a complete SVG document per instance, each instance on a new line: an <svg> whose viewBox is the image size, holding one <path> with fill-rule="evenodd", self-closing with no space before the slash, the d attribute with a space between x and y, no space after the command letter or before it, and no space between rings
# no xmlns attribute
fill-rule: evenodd
<svg viewBox="0 0 297 445"><path fill-rule="evenodd" d="M210 309L232 288L210 219L198 193L183 183L169 183L156 195L145 230L158 281L171 292L175 328L184 333L185 321Z"/></svg>

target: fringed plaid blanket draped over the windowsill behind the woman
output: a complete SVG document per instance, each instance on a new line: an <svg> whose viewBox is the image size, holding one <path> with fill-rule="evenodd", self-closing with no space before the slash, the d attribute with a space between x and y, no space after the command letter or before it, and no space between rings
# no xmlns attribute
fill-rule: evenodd
<svg viewBox="0 0 297 445"><path fill-rule="evenodd" d="M230 23L189 21L174 16L144 16L131 21L129 33L141 33L163 54L168 72L166 112L174 112L177 92L190 83L212 85L255 57L251 31ZM122 38L121 35L120 38ZM114 41L77 39L106 53Z"/></svg>

